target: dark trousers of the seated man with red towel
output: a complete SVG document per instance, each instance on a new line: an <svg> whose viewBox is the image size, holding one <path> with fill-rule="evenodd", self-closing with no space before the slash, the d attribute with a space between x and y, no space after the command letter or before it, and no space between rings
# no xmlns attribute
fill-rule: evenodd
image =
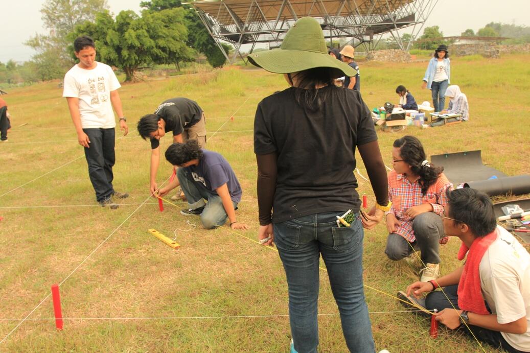
<svg viewBox="0 0 530 353"><path fill-rule="evenodd" d="M439 312L445 308L453 308L453 306L460 310L458 307L458 285L447 286L442 288L444 292L436 290L436 292L431 292L425 298L425 306L428 310L438 310ZM445 293L445 295L444 295ZM447 295L447 297L446 297ZM486 304L488 310L488 304ZM491 310L490 310L491 312ZM470 337L473 335L482 342L488 343L493 348L501 349L511 353L522 352L514 347L511 347L510 344L502 337L502 334L498 331L484 329L479 326L469 325L469 329L465 325L461 325L458 330L463 330ZM473 335L471 334L473 332Z"/></svg>

